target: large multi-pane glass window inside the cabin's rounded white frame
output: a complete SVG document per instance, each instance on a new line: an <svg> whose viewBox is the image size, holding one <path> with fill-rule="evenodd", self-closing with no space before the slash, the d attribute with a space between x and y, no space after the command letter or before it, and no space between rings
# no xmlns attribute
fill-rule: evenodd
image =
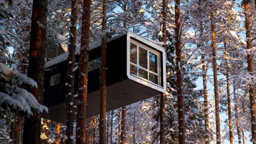
<svg viewBox="0 0 256 144"><path fill-rule="evenodd" d="M130 75L160 85L160 53L130 42Z"/></svg>

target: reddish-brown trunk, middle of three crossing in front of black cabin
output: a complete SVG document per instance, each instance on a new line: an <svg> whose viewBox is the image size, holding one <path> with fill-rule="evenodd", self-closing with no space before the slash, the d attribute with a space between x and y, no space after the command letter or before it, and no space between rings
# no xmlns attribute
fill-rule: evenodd
<svg viewBox="0 0 256 144"><path fill-rule="evenodd" d="M79 60L78 104L76 117L76 143L85 143L85 120L88 83L91 0L83 1L82 38Z"/></svg>

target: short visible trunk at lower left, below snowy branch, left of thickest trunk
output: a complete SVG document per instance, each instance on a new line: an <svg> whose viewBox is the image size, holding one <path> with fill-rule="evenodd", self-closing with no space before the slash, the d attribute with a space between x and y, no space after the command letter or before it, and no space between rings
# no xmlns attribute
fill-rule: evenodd
<svg viewBox="0 0 256 144"><path fill-rule="evenodd" d="M13 144L19 144L20 142L20 122L21 122L21 114L16 111L16 120L11 124L11 139L13 140Z"/></svg>

